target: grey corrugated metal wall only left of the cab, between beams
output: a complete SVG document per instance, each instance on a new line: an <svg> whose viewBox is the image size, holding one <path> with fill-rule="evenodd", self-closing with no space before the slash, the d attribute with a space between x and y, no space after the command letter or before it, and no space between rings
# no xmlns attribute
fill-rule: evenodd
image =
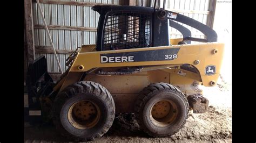
<svg viewBox="0 0 256 143"><path fill-rule="evenodd" d="M79 2L80 0L77 0ZM89 0L81 2L118 4L119 0ZM44 11L44 18L48 25L61 26L82 26L97 27L98 12L91 10L92 6L62 5L62 4L45 4L41 3ZM33 24L44 25L40 15L37 3L32 4ZM78 30L49 30L53 44L56 49L75 50L78 46L86 44L96 44L96 31L78 31ZM35 47L51 46L50 40L43 28L35 28L34 30ZM48 61L48 71L58 73L58 65L54 59L54 55L47 53L36 53L36 58L45 55ZM69 54L58 54L62 70L66 70L65 59Z"/></svg>

